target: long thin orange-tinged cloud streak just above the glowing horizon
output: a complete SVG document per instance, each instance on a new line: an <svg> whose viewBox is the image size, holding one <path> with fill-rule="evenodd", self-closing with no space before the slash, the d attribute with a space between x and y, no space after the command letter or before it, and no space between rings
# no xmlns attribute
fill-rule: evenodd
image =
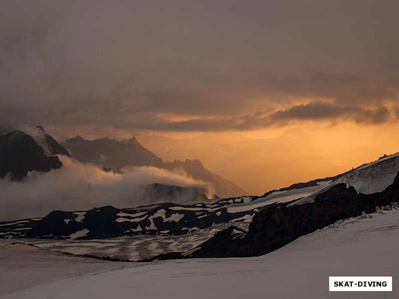
<svg viewBox="0 0 399 299"><path fill-rule="evenodd" d="M174 121L168 117L142 117L127 120L120 129L138 128L152 131L246 131L282 126L304 121L349 121L357 124L375 125L395 121L398 109L385 106L362 108L345 106L329 101L315 101L292 106L286 110L259 111L254 114L233 117L202 117Z"/></svg>

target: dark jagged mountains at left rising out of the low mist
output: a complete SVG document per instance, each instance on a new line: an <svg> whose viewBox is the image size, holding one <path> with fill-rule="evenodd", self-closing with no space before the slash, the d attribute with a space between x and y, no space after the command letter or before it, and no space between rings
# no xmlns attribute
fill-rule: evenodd
<svg viewBox="0 0 399 299"><path fill-rule="evenodd" d="M159 182L157 178L152 179L152 181L150 179L146 183L144 178L142 185L138 186L139 189L135 191L136 193L133 192L130 195L132 202L207 201L208 197L232 197L246 193L233 182L210 172L203 167L199 160L187 159L185 161L164 162L156 154L141 146L135 138L123 141L109 138L88 141L77 136L63 144L70 149L71 155L63 145L58 144L53 137L47 134L42 126L27 132L28 134L22 131L12 131L0 136L1 177L7 176L12 180L22 180L29 176L31 172L40 173L58 169L63 166L60 157L65 156L82 163L97 164L104 171L124 173L125 171L131 171L132 169L130 168L134 166L152 166L168 170L169 174L164 175L172 175L176 178L181 177L183 180L191 177L203 182L198 183L197 187L194 185L186 186L184 183L183 186L179 186L173 183ZM173 181L178 183L176 179L172 179ZM132 184L136 185L138 183L132 181ZM209 192L209 188L205 184L211 186L213 193ZM57 192L59 191L56 191L55 194L58 194ZM124 196L126 197L127 195L125 194ZM112 202L112 199L109 201Z"/></svg>

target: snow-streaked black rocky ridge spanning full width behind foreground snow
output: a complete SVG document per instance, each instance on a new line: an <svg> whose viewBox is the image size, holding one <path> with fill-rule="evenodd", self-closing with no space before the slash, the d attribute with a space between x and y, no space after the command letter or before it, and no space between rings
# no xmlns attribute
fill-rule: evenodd
<svg viewBox="0 0 399 299"><path fill-rule="evenodd" d="M183 238L200 233L202 242L195 247L158 255L150 252L143 260L248 257L272 252L337 221L374 213L397 201L399 153L335 177L294 184L262 196L206 204L53 211L44 218L2 222L0 236L73 240L153 235L156 243L161 240L157 236ZM73 251L73 246L64 250ZM116 251L109 258L120 259L125 254Z"/></svg>

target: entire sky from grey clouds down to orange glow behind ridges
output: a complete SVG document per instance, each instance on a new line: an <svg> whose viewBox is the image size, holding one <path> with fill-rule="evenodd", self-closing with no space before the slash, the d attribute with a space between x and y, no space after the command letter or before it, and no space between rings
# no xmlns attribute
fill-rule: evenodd
<svg viewBox="0 0 399 299"><path fill-rule="evenodd" d="M335 175L399 150L398 12L396 1L7 1L0 131L135 136L250 194ZM307 145L245 149L291 129ZM234 136L237 151L217 144Z"/></svg>

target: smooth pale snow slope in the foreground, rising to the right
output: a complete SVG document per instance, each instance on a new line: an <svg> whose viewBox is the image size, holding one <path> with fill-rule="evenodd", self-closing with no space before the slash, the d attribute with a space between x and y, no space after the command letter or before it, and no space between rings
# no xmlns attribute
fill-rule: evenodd
<svg viewBox="0 0 399 299"><path fill-rule="evenodd" d="M398 249L395 207L340 221L261 257L125 263L119 270L42 284L0 299L399 298ZM65 267L53 263L59 272ZM15 271L8 269L6 275ZM329 276L392 276L393 292L329 292ZM5 283L21 281L1 280L0 289Z"/></svg>

